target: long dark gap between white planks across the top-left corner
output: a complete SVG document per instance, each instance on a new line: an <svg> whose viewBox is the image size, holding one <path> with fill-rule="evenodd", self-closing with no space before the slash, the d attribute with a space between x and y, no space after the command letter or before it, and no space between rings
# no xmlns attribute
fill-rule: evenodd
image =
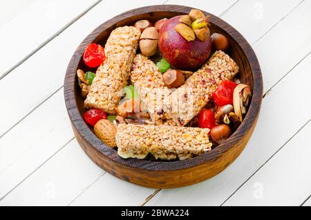
<svg viewBox="0 0 311 220"><path fill-rule="evenodd" d="M73 23L75 23L75 21L77 21L78 19L80 19L81 17L84 16L84 14L86 14L89 10L91 10L92 8L94 8L95 6L97 6L98 3L100 3L102 0L97 0L95 3L93 3L90 7L86 8L86 10L84 10L84 12L82 12L81 14L79 14L77 17L75 17L72 21L70 21L69 23L67 23L63 28L61 28L60 30L58 30L55 34L52 35L52 37L48 38L46 41L44 41L43 43L41 43L37 48L35 48L35 50L32 50L32 52L30 52L28 55L26 55L26 57L23 57L23 59L21 59L21 61L19 61L18 63L16 63L14 66L12 66L12 68L10 68L9 70L7 70L6 72L3 72L3 74L0 76L0 80L3 79L4 77L6 77L8 74L10 74L10 72L12 72L13 70L15 70L17 67L19 67L23 62L27 61L33 54L35 54L38 50L40 50L41 48L43 48L44 46L46 46L47 43L49 43L50 41L52 41L53 39L55 39L55 37L57 37L59 34L62 34L62 32L64 32L64 30L66 30L67 28L69 28ZM3 135L2 135L3 136ZM1 136L1 137L2 137ZM0 138L1 138L0 137Z"/></svg>

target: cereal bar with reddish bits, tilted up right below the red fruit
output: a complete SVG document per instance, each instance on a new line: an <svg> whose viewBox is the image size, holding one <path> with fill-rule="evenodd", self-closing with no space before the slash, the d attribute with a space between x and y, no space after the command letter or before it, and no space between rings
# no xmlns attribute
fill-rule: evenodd
<svg viewBox="0 0 311 220"><path fill-rule="evenodd" d="M170 111L165 117L178 126L185 126L206 106L217 86L222 81L232 80L237 72L234 60L225 52L216 51L202 68L170 94L170 102L165 102Z"/></svg>

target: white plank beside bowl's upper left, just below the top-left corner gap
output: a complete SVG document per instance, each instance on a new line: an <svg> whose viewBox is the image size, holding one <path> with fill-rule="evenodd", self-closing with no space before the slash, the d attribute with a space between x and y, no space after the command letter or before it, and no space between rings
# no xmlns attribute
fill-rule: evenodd
<svg viewBox="0 0 311 220"><path fill-rule="evenodd" d="M64 74L73 52L93 29L126 10L163 2L164 0L133 1L129 5L126 0L115 3L102 1L21 66L1 79L1 94L10 91L10 95L1 97L1 102L6 103L10 108L0 109L0 137L55 90L62 87Z"/></svg>

